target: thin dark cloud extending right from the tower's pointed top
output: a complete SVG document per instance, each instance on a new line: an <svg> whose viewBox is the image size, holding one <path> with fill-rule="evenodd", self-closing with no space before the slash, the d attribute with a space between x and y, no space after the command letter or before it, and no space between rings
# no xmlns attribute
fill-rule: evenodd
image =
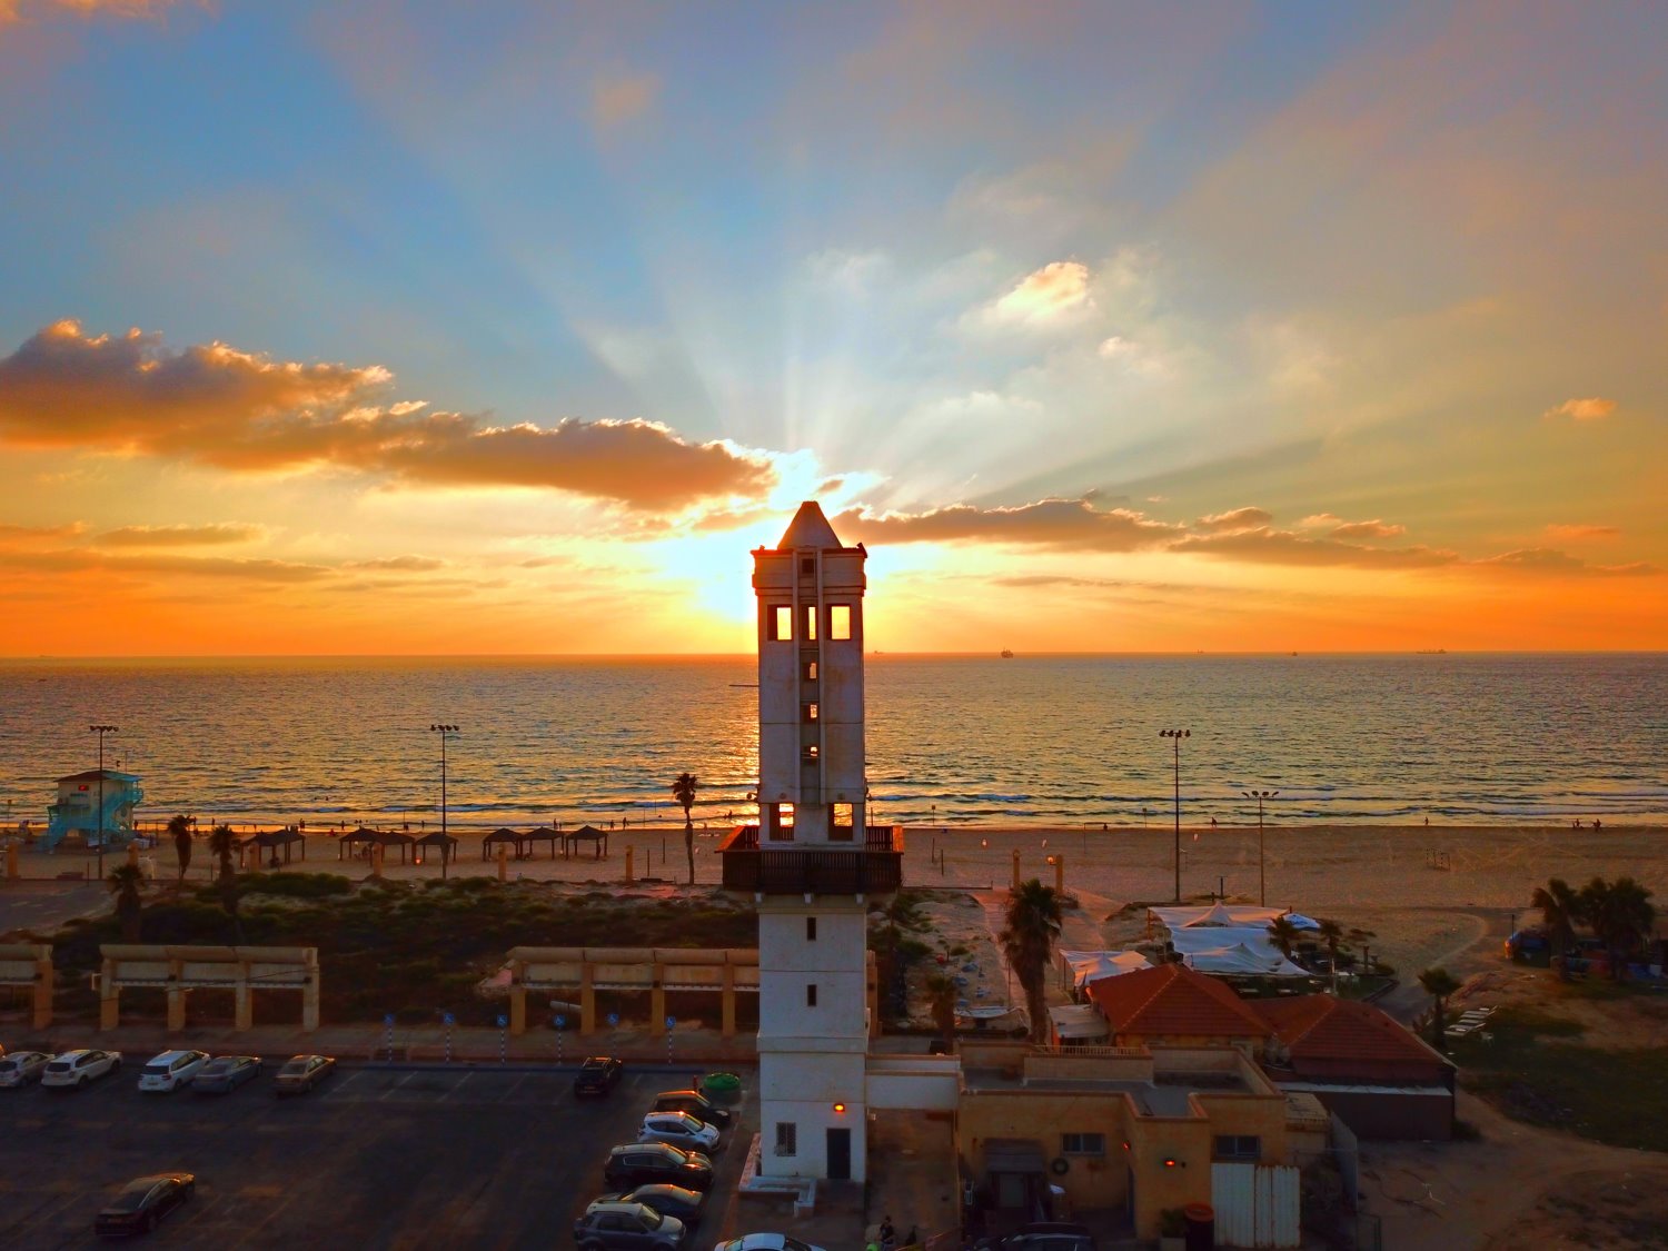
<svg viewBox="0 0 1668 1251"><path fill-rule="evenodd" d="M1184 525L1153 520L1129 509L1096 510L1088 499L1044 499L1012 509L946 509L872 515L851 509L834 517L846 542L992 542L1054 550L1138 552L1186 534Z"/></svg>

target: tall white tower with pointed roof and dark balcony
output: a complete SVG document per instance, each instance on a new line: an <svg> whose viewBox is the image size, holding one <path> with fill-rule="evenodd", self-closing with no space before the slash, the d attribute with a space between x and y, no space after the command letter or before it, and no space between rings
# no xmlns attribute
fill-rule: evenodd
<svg viewBox="0 0 1668 1251"><path fill-rule="evenodd" d="M867 909L896 891L902 832L867 824L862 547L814 502L752 554L759 597L759 824L724 886L759 906L759 1173L862 1181Z"/></svg>

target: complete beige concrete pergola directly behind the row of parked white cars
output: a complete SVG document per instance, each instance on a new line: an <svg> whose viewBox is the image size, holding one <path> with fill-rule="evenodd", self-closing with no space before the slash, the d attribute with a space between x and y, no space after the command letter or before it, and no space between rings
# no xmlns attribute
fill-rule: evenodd
<svg viewBox="0 0 1668 1251"><path fill-rule="evenodd" d="M319 1027L319 947L210 947L105 944L98 979L98 1029L122 1022L122 991L133 986L168 992L168 1029L185 1029L192 991L232 991L234 1029L255 1024L255 991L300 991L302 1029Z"/></svg>

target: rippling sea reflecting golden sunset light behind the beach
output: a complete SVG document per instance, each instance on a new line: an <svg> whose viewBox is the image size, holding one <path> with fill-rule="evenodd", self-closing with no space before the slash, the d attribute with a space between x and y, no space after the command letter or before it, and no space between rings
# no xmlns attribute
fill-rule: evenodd
<svg viewBox="0 0 1668 1251"><path fill-rule="evenodd" d="M5 819L140 776L140 816L309 831L752 814L754 659L0 661ZM1668 824L1668 654L872 656L872 819ZM1159 731L1186 731L1163 737ZM1176 744L1179 742L1179 752Z"/></svg>

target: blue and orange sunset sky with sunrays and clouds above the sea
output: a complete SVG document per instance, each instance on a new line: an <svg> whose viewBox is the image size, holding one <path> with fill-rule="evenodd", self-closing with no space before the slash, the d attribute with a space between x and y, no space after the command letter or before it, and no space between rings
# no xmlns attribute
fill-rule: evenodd
<svg viewBox="0 0 1668 1251"><path fill-rule="evenodd" d="M0 0L0 654L1668 647L1668 7Z"/></svg>

